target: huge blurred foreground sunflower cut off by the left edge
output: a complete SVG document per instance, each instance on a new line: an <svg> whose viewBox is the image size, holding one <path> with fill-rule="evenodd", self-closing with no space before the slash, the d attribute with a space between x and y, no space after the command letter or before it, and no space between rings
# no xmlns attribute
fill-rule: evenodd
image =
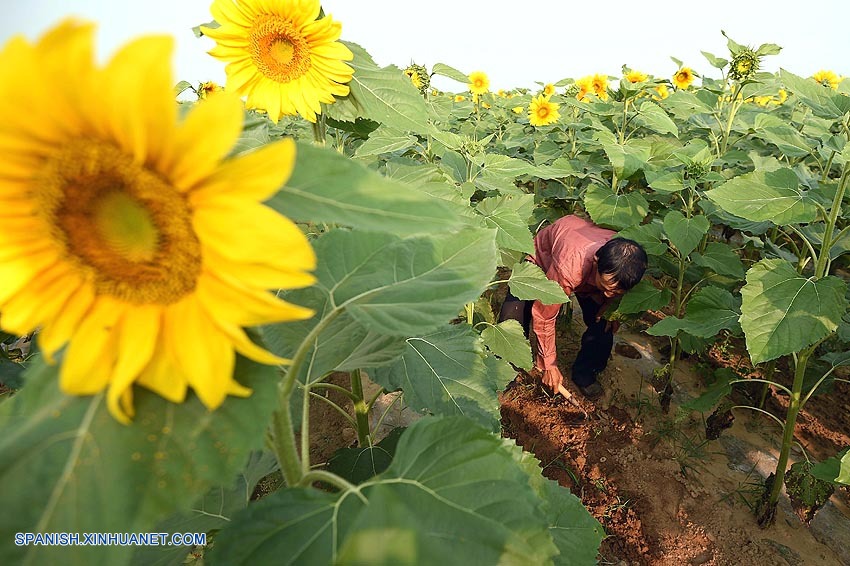
<svg viewBox="0 0 850 566"><path fill-rule="evenodd" d="M244 327L308 318L268 290L314 278L309 243L260 204L289 177L283 140L223 160L242 103L220 93L178 121L173 41L135 40L95 67L92 24L66 21L0 52L0 326L41 328L69 394L106 390L128 422L133 384L214 409L250 390L235 352L281 360Z"/></svg>

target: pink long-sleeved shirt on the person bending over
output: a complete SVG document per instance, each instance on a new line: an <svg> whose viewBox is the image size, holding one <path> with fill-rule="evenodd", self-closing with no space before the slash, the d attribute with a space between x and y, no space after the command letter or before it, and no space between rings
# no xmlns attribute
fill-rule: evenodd
<svg viewBox="0 0 850 566"><path fill-rule="evenodd" d="M531 260L546 277L558 283L569 296L572 293L593 295L602 303L605 296L596 283L596 252L616 232L600 228L578 216L564 216L537 233L535 255ZM537 336L535 366L546 370L555 367L555 319L561 305L544 305L534 301L531 309L532 328Z"/></svg>

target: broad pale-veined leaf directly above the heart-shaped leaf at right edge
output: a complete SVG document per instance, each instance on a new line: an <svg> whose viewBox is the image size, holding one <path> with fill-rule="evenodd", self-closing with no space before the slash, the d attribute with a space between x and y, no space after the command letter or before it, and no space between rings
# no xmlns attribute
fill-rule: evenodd
<svg viewBox="0 0 850 566"><path fill-rule="evenodd" d="M739 175L705 194L726 212L753 222L783 225L812 222L817 216L817 207L800 190L796 173L784 167Z"/></svg>

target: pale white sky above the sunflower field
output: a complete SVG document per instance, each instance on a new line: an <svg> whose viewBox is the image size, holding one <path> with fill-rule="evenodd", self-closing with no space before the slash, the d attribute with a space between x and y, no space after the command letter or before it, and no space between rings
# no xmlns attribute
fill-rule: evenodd
<svg viewBox="0 0 850 566"><path fill-rule="evenodd" d="M34 39L64 17L99 23L106 57L129 38L167 33L177 39L175 82L224 82L212 42L191 28L212 19L210 0L0 0L0 44ZM850 3L845 0L327 0L342 39L363 46L380 65L445 63L482 70L491 89L534 88L590 73L618 76L623 64L658 77L676 70L670 56L697 73L719 77L700 51L728 58L723 29L735 41L782 46L764 68L810 76L819 69L850 74ZM448 79L444 90L465 90Z"/></svg>

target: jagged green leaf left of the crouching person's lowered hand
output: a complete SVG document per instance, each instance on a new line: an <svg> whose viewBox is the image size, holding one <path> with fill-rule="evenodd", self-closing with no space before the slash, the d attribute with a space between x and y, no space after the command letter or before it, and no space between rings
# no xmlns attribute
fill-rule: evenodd
<svg viewBox="0 0 850 566"><path fill-rule="evenodd" d="M481 337L468 324L408 338L398 362L370 375L387 390L402 389L405 402L418 411L464 415L499 428L498 392L506 383L487 371Z"/></svg>

